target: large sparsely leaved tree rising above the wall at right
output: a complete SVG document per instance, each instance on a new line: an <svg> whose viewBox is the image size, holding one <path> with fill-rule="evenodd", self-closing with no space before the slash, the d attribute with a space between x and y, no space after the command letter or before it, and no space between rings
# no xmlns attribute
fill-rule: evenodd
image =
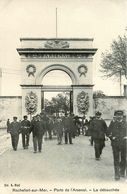
<svg viewBox="0 0 127 194"><path fill-rule="evenodd" d="M126 49L126 36L118 36L118 40L112 42L110 51L102 53L100 71L104 73L105 77L109 78L115 76L121 79L123 75L127 78Z"/></svg>

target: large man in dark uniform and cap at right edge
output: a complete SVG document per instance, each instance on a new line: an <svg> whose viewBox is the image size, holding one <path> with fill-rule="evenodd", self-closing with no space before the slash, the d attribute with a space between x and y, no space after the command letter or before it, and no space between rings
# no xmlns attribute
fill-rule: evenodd
<svg viewBox="0 0 127 194"><path fill-rule="evenodd" d="M115 111L108 129L114 158L115 180L125 177L127 157L127 123L123 111Z"/></svg>

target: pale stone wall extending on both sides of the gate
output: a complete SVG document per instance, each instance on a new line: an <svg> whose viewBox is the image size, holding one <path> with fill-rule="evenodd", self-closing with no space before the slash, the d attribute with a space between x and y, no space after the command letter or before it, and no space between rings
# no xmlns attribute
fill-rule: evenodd
<svg viewBox="0 0 127 194"><path fill-rule="evenodd" d="M21 118L22 111L21 96L0 96L0 128L6 126L9 118L12 121L13 116ZM94 98L94 113L102 112L102 117L108 122L112 119L114 110L124 110L127 115L127 97L124 96L105 96L103 98Z"/></svg>

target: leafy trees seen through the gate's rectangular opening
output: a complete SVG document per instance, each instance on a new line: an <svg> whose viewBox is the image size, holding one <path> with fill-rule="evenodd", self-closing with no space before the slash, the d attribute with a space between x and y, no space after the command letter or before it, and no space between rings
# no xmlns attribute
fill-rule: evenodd
<svg viewBox="0 0 127 194"><path fill-rule="evenodd" d="M69 93L59 93L56 97L53 97L51 101L45 100L45 111L48 114L57 114L64 112L65 114L70 110L70 98Z"/></svg>

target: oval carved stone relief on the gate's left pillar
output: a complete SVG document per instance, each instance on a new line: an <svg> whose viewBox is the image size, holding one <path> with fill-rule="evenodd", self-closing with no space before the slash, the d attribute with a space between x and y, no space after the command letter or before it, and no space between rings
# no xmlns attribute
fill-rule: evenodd
<svg viewBox="0 0 127 194"><path fill-rule="evenodd" d="M37 111L38 97L34 92L30 92L25 97L25 108L28 114L34 114Z"/></svg>

